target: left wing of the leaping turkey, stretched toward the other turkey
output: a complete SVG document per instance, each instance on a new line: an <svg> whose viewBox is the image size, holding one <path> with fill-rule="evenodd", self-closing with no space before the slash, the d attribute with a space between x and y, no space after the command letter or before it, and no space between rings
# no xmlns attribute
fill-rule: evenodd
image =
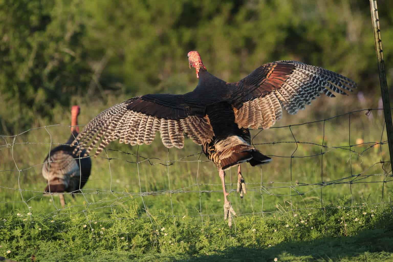
<svg viewBox="0 0 393 262"><path fill-rule="evenodd" d="M77 136L88 154L99 140L99 154L111 141L130 145L149 145L156 132L165 147L182 148L185 133L196 144L210 142L214 136L202 105L189 103L184 95L143 95L116 104L91 120ZM72 145L77 144L77 140Z"/></svg>

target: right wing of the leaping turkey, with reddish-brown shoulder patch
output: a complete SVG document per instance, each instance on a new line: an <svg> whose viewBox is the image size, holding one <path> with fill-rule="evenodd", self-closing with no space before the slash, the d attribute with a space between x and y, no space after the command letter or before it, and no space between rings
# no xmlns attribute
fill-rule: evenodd
<svg viewBox="0 0 393 262"><path fill-rule="evenodd" d="M254 129L274 125L282 117L282 108L296 114L320 93L334 97L332 92L345 95L343 90L356 88L347 77L296 61L264 64L231 85L235 122L239 128Z"/></svg>

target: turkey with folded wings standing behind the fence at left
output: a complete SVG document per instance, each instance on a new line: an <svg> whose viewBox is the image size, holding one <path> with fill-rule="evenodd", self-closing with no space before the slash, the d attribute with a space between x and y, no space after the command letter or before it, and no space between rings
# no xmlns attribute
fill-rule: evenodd
<svg viewBox="0 0 393 262"><path fill-rule="evenodd" d="M44 192L62 193L78 192L86 184L92 161L86 150L81 152L83 158L79 158L79 152L73 152L74 147L70 147L75 137L79 134L78 115L79 106L72 106L71 109L71 136L64 145L53 148L45 157L42 165L42 176L48 181ZM60 194L61 206L64 207L64 195Z"/></svg>

